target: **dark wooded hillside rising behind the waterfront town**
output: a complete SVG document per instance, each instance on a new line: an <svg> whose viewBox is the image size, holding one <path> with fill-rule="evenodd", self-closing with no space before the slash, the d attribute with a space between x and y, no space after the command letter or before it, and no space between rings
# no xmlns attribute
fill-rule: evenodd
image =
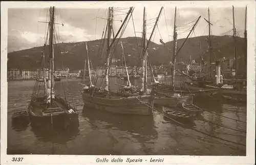
<svg viewBox="0 0 256 165"><path fill-rule="evenodd" d="M183 48L178 54L178 61L189 61L189 57L192 56L193 59L199 61L200 56L200 46L201 42L202 51L207 49L208 43L205 40L206 36L189 38L184 44ZM182 45L185 39L178 40L178 49ZM135 37L128 37L121 39L124 47L125 60L127 65L137 65L138 63L138 48L141 46L141 38L137 38L137 43ZM98 57L98 49L100 43L103 40L88 41L88 49L90 54L90 59L92 60L93 66L103 65L105 62L106 53L104 51L101 58ZM222 57L233 57L233 39L230 36L212 36L211 43L213 47L213 52L215 52L218 58ZM164 45L158 45L151 42L148 46L148 54L150 55L150 60L153 65L166 64L170 61L173 48L173 42L167 42ZM43 47L34 47L26 50L20 50L8 53L8 69L18 68L18 69L37 69L40 67L41 51ZM61 53L62 52L62 53ZM49 47L46 48L46 56L49 54ZM116 58L121 59L121 46L120 42L116 49ZM237 38L237 54L238 57L244 56L244 38ZM71 70L82 69L84 65L84 60L86 59L86 45L84 42L77 43L59 43L54 45L54 59L55 68L68 67ZM100 59L100 60L99 60ZM209 54L204 55L204 60L209 60ZM212 61L215 60L214 53L212 53Z"/></svg>

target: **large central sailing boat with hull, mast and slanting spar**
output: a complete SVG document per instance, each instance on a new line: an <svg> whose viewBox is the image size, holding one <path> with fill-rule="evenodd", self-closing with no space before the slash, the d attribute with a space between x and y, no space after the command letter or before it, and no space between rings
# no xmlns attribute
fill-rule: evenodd
<svg viewBox="0 0 256 165"><path fill-rule="evenodd" d="M127 18L133 12L134 8L131 7L127 13L122 25L111 42L112 36L112 24L113 24L113 7L109 8L108 12L108 26L106 31L108 31L107 41L107 57L106 57L106 67L105 67L105 79L104 89L95 87L91 81L91 85L87 90L81 90L82 98L84 101L84 106L89 108L95 108L101 111L107 111L118 114L136 114L136 115L152 115L153 114L153 103L154 95L140 95L140 96L128 96L122 97L117 95L115 92L111 92L109 88L109 67L111 62L111 48L117 38L119 32L121 31L123 25L126 23ZM90 74L90 73L89 73Z"/></svg>

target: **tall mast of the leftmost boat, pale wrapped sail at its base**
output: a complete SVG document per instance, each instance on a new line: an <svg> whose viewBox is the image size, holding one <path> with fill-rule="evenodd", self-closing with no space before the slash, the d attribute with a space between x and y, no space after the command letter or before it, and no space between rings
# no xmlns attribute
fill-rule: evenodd
<svg viewBox="0 0 256 165"><path fill-rule="evenodd" d="M51 100L52 100L52 94L53 94L53 88L54 88L54 83L53 83L53 81L54 81L54 78L53 78L53 56L54 56L54 54L53 54L53 37L54 37L54 10L55 10L55 7L53 6L53 7L51 7L50 8L50 43L49 43L49 50L50 50L50 53L49 53L49 58L50 58L50 60L49 60L49 63L50 63L50 65L49 65L49 76L48 76L48 78L49 78L49 81L48 81L48 89L49 89L49 87L50 87L50 90L51 90L51 92L50 92L50 102L51 102Z"/></svg>

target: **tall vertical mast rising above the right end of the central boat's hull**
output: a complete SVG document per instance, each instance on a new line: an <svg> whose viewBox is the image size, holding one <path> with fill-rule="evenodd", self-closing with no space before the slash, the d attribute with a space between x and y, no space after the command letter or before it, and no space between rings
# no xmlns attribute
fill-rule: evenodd
<svg viewBox="0 0 256 165"><path fill-rule="evenodd" d="M142 48L143 48L143 58L142 58L142 84L141 89L143 92L146 91L146 82L147 82L147 74L146 74L146 9L144 7L143 10L143 32L142 32Z"/></svg>

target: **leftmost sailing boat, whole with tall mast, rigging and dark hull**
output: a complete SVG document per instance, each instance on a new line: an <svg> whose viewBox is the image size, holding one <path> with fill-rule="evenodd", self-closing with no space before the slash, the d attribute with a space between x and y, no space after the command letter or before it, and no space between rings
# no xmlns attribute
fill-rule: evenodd
<svg viewBox="0 0 256 165"><path fill-rule="evenodd" d="M44 93L40 93L40 82L35 81L35 88L28 107L31 124L52 125L52 127L66 127L68 123L78 121L78 111L66 99L55 95L54 88L54 51L53 39L55 30L55 7L50 7L49 36L49 78L46 80L45 48L42 52L42 70L44 74ZM48 33L47 33L48 34ZM47 40L46 40L46 43ZM41 70L39 76L42 76Z"/></svg>

